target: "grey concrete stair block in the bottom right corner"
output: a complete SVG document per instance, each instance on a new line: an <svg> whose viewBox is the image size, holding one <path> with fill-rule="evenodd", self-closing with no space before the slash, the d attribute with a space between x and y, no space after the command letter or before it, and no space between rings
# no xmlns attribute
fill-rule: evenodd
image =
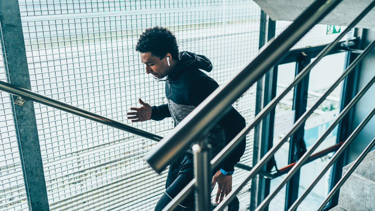
<svg viewBox="0 0 375 211"><path fill-rule="evenodd" d="M352 164L343 168L343 175ZM341 187L339 204L335 208L337 211L375 210L375 150L363 159Z"/></svg>

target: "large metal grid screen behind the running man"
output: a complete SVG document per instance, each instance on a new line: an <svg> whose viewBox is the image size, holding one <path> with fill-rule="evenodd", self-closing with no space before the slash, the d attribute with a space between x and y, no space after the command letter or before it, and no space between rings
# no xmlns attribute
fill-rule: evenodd
<svg viewBox="0 0 375 211"><path fill-rule="evenodd" d="M145 74L134 50L145 28L168 27L181 51L210 58L209 75L220 85L258 52L260 8L249 0L19 2L32 91L161 136L173 128L171 118L126 119L138 98L166 103L164 84ZM253 86L234 103L248 124L255 96ZM143 159L154 141L39 103L34 107L50 210L153 210L167 172L157 175ZM253 137L249 133L241 159L247 165ZM237 169L234 186L245 174ZM249 187L238 196L240 210L249 206Z"/></svg>

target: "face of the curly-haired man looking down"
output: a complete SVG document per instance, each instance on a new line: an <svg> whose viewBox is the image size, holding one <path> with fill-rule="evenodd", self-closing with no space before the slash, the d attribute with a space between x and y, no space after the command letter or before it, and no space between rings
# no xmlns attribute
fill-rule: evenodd
<svg viewBox="0 0 375 211"><path fill-rule="evenodd" d="M141 53L141 61L146 65L146 73L152 74L156 78L164 78L168 75L169 67L166 58L153 56L150 52Z"/></svg>

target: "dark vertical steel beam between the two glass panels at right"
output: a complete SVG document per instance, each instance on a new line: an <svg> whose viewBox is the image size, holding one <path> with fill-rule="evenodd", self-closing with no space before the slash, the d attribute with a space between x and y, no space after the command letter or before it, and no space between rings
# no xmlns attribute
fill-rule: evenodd
<svg viewBox="0 0 375 211"><path fill-rule="evenodd" d="M311 58L301 53L296 61L296 75L310 63ZM305 112L307 106L307 93L309 88L309 74L294 87L293 110L296 111L294 121L296 122ZM305 123L290 138L288 164L297 162L303 153L306 152L306 145L303 140L305 134ZM298 171L287 183L285 192L285 210L288 210L298 198L300 171Z"/></svg>

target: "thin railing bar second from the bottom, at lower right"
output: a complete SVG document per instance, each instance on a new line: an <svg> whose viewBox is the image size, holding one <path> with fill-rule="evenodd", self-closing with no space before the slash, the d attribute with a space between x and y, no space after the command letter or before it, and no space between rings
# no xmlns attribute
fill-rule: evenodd
<svg viewBox="0 0 375 211"><path fill-rule="evenodd" d="M353 131L353 133L345 140L344 144L341 145L338 151L333 155L330 161L327 163L326 167L320 172L317 178L311 183L311 185L303 192L302 196L300 196L293 205L289 208L288 211L296 210L298 205L301 204L302 200L311 192L312 188L318 183L318 181L323 177L323 175L328 171L328 169L336 162L336 160L341 156L342 153L346 150L349 144L356 138L359 132L366 126L366 124L370 121L370 119L375 114L375 107L372 111L362 120L362 122L357 126L357 128Z"/></svg>

